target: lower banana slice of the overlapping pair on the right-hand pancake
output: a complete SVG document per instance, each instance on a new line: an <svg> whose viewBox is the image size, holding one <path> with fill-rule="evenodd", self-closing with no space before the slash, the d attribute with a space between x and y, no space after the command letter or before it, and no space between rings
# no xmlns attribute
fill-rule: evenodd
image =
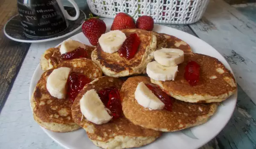
<svg viewBox="0 0 256 149"><path fill-rule="evenodd" d="M174 80L178 71L178 66L163 66L157 61L148 63L146 72L148 77L157 81Z"/></svg>

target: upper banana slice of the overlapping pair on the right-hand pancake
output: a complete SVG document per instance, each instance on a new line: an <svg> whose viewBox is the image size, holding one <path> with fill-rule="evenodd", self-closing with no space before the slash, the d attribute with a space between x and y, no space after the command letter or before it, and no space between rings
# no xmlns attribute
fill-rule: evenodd
<svg viewBox="0 0 256 149"><path fill-rule="evenodd" d="M154 59L163 66L177 66L184 61L184 52L180 49L162 48L154 52Z"/></svg>

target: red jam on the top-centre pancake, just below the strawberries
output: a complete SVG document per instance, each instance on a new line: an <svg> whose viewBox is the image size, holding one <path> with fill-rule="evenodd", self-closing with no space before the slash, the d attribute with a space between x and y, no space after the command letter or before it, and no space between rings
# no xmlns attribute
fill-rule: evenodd
<svg viewBox="0 0 256 149"><path fill-rule="evenodd" d="M121 57L125 57L128 60L131 60L136 54L138 48L140 46L140 37L136 34L130 34L129 37L126 38L122 47L119 49L119 54Z"/></svg>

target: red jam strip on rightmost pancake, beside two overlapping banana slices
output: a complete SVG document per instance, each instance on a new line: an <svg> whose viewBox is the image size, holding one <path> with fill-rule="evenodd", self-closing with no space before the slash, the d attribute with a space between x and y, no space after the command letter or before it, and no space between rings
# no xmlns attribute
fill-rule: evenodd
<svg viewBox="0 0 256 149"><path fill-rule="evenodd" d="M189 61L185 67L184 77L191 86L195 86L199 81L200 66L195 61Z"/></svg>

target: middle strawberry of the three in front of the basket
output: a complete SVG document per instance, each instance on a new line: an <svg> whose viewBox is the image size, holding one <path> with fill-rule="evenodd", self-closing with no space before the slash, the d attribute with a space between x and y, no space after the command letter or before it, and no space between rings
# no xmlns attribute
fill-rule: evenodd
<svg viewBox="0 0 256 149"><path fill-rule="evenodd" d="M123 12L116 14L114 21L111 26L111 31L121 29L135 29L135 23L131 16Z"/></svg>

